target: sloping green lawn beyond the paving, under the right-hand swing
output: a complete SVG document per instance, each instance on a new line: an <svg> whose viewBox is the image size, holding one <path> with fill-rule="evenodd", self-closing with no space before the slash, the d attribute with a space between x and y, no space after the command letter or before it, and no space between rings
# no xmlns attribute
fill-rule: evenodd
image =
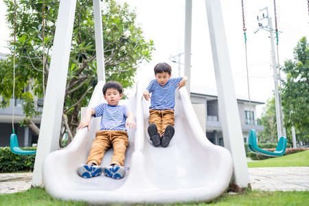
<svg viewBox="0 0 309 206"><path fill-rule="evenodd" d="M308 167L309 150L297 152L292 155L263 159L260 161L248 162L249 168L269 168L269 167Z"/></svg>

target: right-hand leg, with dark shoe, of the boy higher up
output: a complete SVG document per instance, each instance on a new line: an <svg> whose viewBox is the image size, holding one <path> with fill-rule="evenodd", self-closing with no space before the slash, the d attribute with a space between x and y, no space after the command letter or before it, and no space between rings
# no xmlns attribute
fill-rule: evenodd
<svg viewBox="0 0 309 206"><path fill-rule="evenodd" d="M174 136L174 111L173 110L165 110L163 111L162 117L162 139L161 146L164 148L170 144L170 140Z"/></svg>

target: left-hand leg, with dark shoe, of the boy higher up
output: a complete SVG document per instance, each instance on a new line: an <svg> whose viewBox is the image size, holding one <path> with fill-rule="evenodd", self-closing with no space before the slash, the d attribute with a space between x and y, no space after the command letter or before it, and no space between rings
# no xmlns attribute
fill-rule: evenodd
<svg viewBox="0 0 309 206"><path fill-rule="evenodd" d="M154 146L159 146L161 144L161 111L150 109L149 113L149 126L148 126L148 135L152 144Z"/></svg>

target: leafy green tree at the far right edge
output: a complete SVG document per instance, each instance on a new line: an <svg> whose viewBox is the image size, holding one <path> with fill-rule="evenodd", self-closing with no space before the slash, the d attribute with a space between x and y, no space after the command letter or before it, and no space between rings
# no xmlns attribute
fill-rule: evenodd
<svg viewBox="0 0 309 206"><path fill-rule="evenodd" d="M297 141L309 144L309 45L301 38L294 49L294 59L281 68L286 73L282 87L284 126L299 129Z"/></svg>

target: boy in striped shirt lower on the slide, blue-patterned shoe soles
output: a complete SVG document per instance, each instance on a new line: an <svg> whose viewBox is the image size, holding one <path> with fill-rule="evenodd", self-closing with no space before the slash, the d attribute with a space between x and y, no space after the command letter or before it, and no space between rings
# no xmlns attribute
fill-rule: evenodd
<svg viewBox="0 0 309 206"><path fill-rule="evenodd" d="M106 82L103 87L103 95L106 103L87 109L86 118L80 122L79 128L90 126L91 115L102 117L101 128L95 133L95 139L91 145L86 164L78 167L78 174L84 178L105 176L113 179L121 179L126 174L124 158L128 146L128 133L126 128L135 127L133 113L128 111L126 105L118 105L122 98L122 85L119 82ZM113 147L114 153L111 165L101 167L102 158L108 148Z"/></svg>

